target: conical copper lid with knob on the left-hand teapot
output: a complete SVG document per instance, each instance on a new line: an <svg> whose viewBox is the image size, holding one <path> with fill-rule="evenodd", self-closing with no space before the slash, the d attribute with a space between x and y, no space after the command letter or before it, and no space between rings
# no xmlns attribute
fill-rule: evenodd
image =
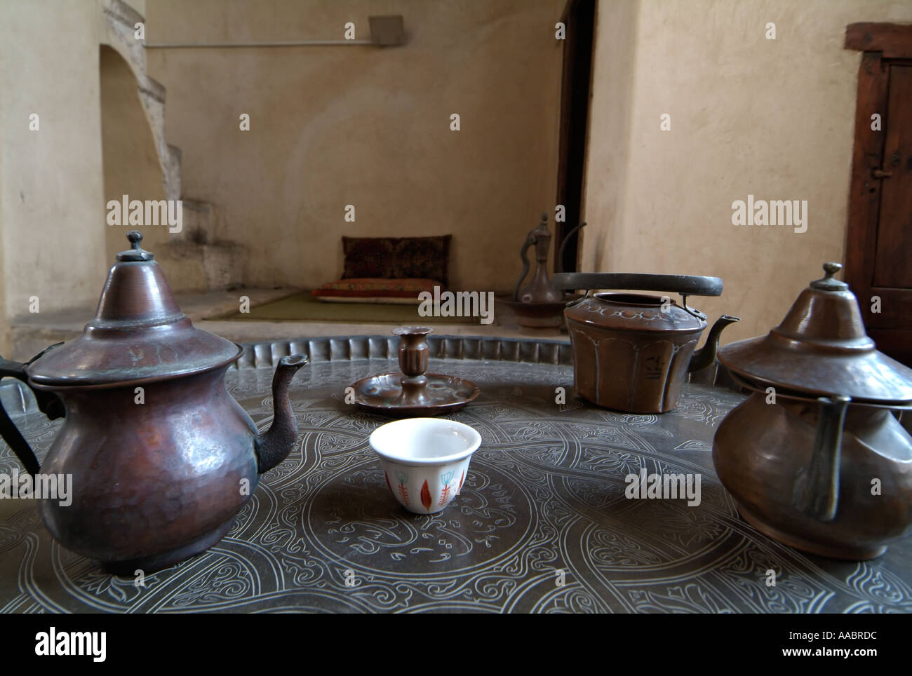
<svg viewBox="0 0 912 676"><path fill-rule="evenodd" d="M230 364L242 352L235 343L194 328L154 256L140 248L140 232L130 230L127 239L131 248L117 254L95 318L77 339L26 365L32 384L157 381Z"/></svg>

